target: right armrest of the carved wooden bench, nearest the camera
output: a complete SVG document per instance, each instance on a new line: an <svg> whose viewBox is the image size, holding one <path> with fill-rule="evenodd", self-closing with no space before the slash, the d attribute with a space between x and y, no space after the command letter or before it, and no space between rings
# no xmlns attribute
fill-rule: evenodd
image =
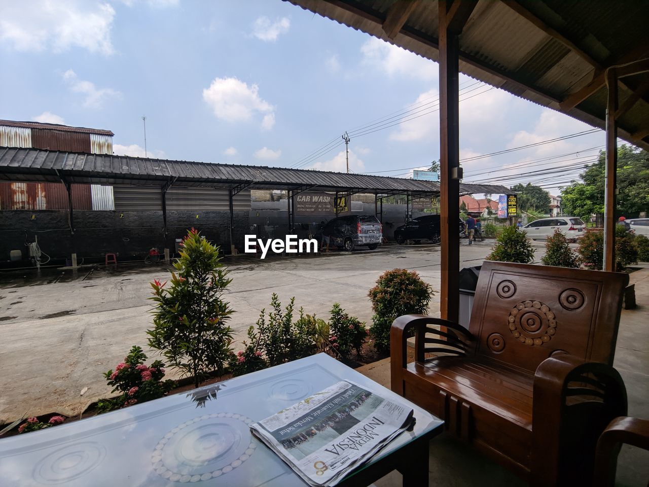
<svg viewBox="0 0 649 487"><path fill-rule="evenodd" d="M569 470L577 475L571 455L587 458L583 464L590 467L584 467L583 475L593 475L596 440L579 452L571 451L568 442L580 438L584 428L596 438L601 432L595 431L598 425L603 429L611 419L625 416L626 410L626 388L612 366L567 353L543 360L533 383L532 484L554 485ZM590 484L587 477L582 478L584 484Z"/></svg>

